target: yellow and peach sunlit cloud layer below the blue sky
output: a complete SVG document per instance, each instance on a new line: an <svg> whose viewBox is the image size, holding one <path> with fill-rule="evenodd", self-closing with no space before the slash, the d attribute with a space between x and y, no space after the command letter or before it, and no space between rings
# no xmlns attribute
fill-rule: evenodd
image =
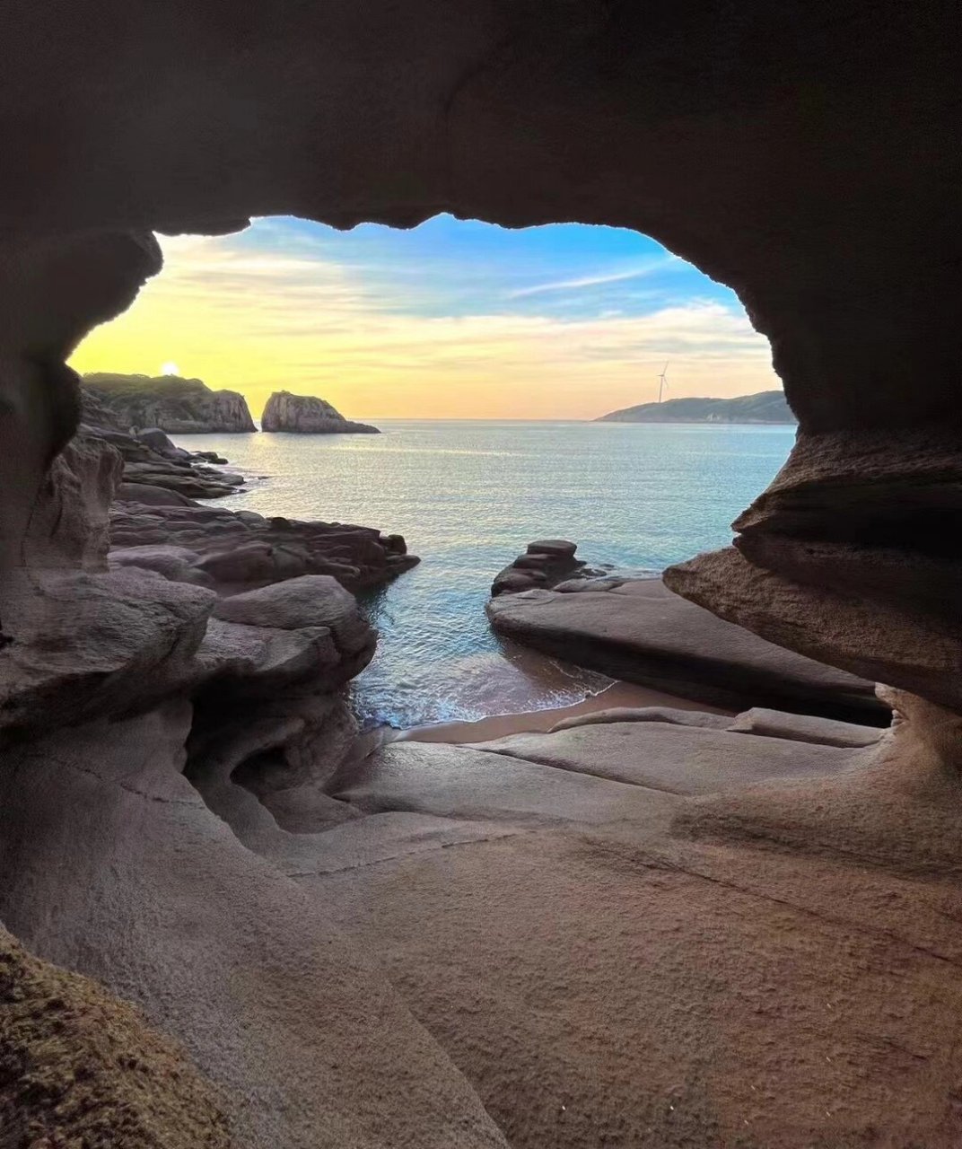
<svg viewBox="0 0 962 1149"><path fill-rule="evenodd" d="M249 234L176 237L163 246L164 271L129 313L85 340L72 361L78 370L143 371L172 360L212 386L245 392L255 412L287 387L355 417L591 417L654 398L666 358L673 396L778 385L767 340L719 299L689 295L653 309L649 300L644 314L620 299L619 310L557 315L504 307L502 295L501 306L426 314L417 278L338 262L302 238L285 247L257 246ZM424 290L443 287L426 278Z"/></svg>

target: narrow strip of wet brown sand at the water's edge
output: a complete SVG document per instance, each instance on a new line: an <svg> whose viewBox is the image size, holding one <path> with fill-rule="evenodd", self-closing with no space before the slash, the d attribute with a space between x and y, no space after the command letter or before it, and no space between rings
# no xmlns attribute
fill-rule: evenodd
<svg viewBox="0 0 962 1149"><path fill-rule="evenodd" d="M734 714L703 702L677 699L672 694L651 691L631 683L614 683L599 694L592 694L582 702L553 710L528 710L521 714L492 715L478 722L448 722L430 726L414 726L397 735L398 740L416 742L483 742L506 734L525 734L548 731L563 718L611 710L614 707L673 707L676 710L701 710L709 714Z"/></svg>

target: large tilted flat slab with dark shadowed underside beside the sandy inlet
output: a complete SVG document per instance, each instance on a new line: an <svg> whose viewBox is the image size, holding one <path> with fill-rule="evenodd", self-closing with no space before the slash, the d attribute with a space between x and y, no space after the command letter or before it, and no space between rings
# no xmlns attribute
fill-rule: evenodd
<svg viewBox="0 0 962 1149"><path fill-rule="evenodd" d="M874 684L726 623L660 579L576 594L506 594L488 603L488 614L515 642L682 697L887 723Z"/></svg>

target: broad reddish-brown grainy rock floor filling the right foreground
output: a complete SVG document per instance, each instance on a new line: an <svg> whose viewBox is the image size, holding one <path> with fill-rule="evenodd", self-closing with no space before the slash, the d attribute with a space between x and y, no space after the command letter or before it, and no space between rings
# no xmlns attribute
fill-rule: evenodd
<svg viewBox="0 0 962 1149"><path fill-rule="evenodd" d="M658 847L521 833L304 885L513 1149L960 1143L954 889Z"/></svg>

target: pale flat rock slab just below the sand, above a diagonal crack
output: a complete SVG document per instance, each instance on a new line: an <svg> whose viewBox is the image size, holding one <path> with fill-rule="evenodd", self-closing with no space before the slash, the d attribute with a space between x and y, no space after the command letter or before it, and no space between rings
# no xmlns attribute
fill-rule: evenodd
<svg viewBox="0 0 962 1149"><path fill-rule="evenodd" d="M473 749L669 794L720 794L773 778L835 774L854 765L859 756L852 749L662 722L512 734L476 742Z"/></svg>

